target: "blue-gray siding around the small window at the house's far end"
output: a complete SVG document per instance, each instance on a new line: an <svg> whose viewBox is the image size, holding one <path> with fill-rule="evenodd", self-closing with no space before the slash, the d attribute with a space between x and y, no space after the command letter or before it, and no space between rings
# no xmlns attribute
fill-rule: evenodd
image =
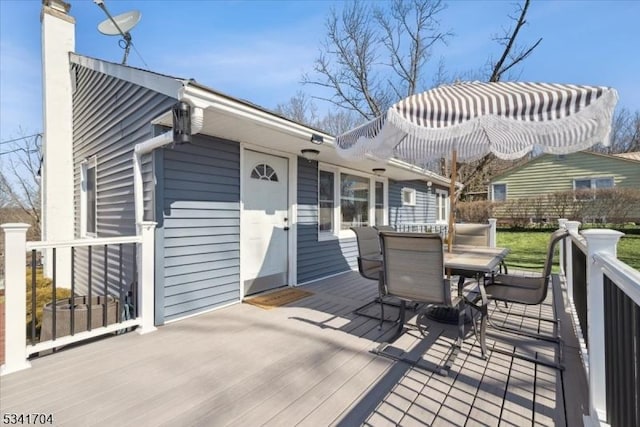
<svg viewBox="0 0 640 427"><path fill-rule="evenodd" d="M416 190L415 206L402 205L403 188ZM435 209L435 196L428 191L426 182L389 180L389 225L396 226L405 222L435 222Z"/></svg>

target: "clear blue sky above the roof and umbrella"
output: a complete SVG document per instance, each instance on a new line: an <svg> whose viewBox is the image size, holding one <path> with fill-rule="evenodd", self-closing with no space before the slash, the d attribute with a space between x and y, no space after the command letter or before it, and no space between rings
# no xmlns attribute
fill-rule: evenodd
<svg viewBox="0 0 640 427"><path fill-rule="evenodd" d="M105 16L90 0L71 0L76 51L120 62L117 37L97 32ZM113 15L142 13L129 64L195 78L267 108L286 102L312 70L324 22L340 1L106 0ZM451 1L442 26L455 36L434 52L450 74L477 71L501 49L494 34L510 25L511 1ZM40 0L0 0L0 140L42 130ZM640 2L534 1L521 43L542 37L512 77L616 88L620 107L640 110ZM141 59L142 57L142 59Z"/></svg>

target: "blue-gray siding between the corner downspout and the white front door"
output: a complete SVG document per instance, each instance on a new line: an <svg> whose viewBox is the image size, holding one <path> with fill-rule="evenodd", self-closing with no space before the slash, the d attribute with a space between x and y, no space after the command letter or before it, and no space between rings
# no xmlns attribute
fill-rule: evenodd
<svg viewBox="0 0 640 427"><path fill-rule="evenodd" d="M156 318L171 320L240 300L240 147L198 135L162 151L164 298Z"/></svg>

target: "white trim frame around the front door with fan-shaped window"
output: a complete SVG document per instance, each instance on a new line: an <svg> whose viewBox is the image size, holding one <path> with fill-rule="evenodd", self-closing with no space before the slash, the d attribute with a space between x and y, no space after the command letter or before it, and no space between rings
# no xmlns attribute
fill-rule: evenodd
<svg viewBox="0 0 640 427"><path fill-rule="evenodd" d="M287 286L296 286L297 285L297 204L298 204L298 183L297 183L297 170L298 170L298 156L296 154L287 153L280 150L274 150L271 148L265 148L259 145L251 144L248 142L240 143L240 299L243 300L245 297L245 289L244 289L244 281L246 278L246 271L242 264L242 254L245 250L244 240L242 238L242 224L243 224L243 212L244 212L244 202L243 202L243 192L244 192L244 176L245 176L245 150L251 150L262 154L267 154L271 156L277 156L287 159L287 218L289 224L289 231L287 234Z"/></svg>

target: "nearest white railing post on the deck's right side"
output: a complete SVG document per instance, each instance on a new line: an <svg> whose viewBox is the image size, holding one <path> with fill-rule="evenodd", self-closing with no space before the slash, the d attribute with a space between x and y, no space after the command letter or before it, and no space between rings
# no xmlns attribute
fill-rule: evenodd
<svg viewBox="0 0 640 427"><path fill-rule="evenodd" d="M604 275L595 265L594 255L616 256L616 247L624 233L615 230L585 230L587 241L587 336L589 337L589 403L591 416L607 419L604 341ZM595 410L595 414L593 411Z"/></svg>

